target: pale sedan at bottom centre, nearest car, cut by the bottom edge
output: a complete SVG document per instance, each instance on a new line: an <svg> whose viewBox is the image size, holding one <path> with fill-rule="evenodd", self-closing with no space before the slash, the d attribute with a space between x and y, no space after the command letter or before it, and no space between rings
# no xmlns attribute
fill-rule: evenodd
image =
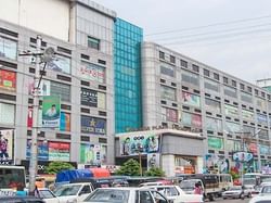
<svg viewBox="0 0 271 203"><path fill-rule="evenodd" d="M145 188L98 188L83 202L169 203L158 191Z"/></svg>

